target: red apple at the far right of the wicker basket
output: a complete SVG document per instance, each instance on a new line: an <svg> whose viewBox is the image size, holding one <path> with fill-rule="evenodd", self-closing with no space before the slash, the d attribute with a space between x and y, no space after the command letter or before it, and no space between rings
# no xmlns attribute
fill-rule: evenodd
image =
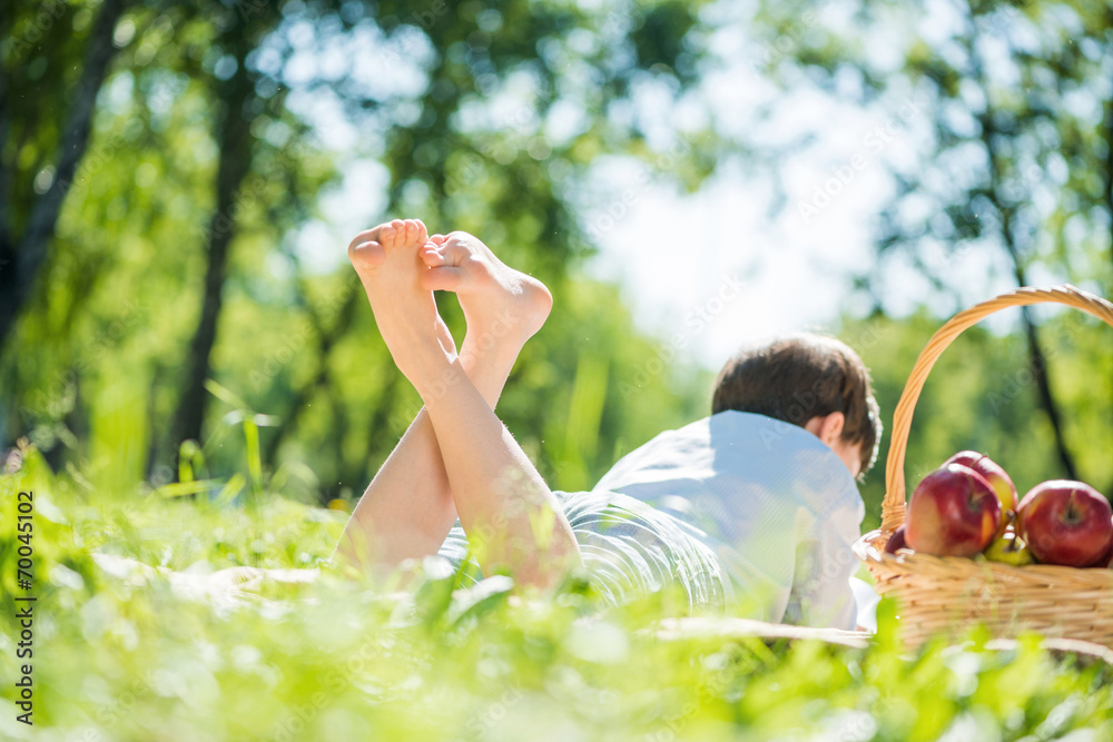
<svg viewBox="0 0 1113 742"><path fill-rule="evenodd" d="M1113 508L1082 482L1053 479L1024 495L1016 527L1037 561L1084 567L1105 556L1113 542Z"/></svg>

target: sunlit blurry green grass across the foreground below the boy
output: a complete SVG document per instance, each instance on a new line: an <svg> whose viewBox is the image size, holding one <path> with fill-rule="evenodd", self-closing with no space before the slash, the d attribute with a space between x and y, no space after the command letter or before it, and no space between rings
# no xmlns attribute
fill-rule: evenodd
<svg viewBox="0 0 1113 742"><path fill-rule="evenodd" d="M343 513L99 496L30 458L0 481L0 739L1113 739L1113 673L976 636L906 651L883 604L865 650L657 637L669 601L607 610L580 580L523 600L505 578L390 591L325 570L214 604L106 576L92 552L175 570L322 564ZM36 491L35 726L12 704L14 494ZM23 661L20 661L23 662Z"/></svg>

